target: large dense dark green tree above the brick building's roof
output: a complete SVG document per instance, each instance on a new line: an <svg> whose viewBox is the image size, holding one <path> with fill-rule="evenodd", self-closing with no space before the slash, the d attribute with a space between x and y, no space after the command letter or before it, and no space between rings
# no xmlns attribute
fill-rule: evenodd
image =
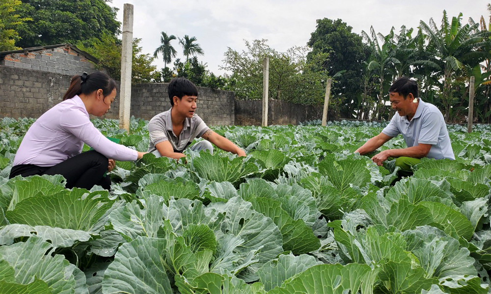
<svg viewBox="0 0 491 294"><path fill-rule="evenodd" d="M2 0L3 2L4 0ZM33 21L19 25L22 48L61 43L75 44L104 34L120 33L117 8L107 0L22 0L19 15Z"/></svg>

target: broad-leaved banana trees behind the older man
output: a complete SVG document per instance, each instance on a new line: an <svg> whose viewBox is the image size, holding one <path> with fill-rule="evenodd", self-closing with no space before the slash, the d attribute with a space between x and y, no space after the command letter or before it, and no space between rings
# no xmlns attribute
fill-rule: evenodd
<svg viewBox="0 0 491 294"><path fill-rule="evenodd" d="M372 95L378 92L377 97L365 99L368 104L378 101L373 110L377 116L373 117L390 117L383 97L396 78L407 75L417 80L419 97L435 104L447 122L465 122L469 79L474 76L475 114L480 122L491 122L491 33L484 17L479 23L471 18L464 23L462 13L450 17L443 10L439 25L430 18L428 23L420 21L415 36L413 32L404 25L399 34L393 27L386 35L376 33L373 27L370 33L362 32L371 49L363 76L378 81L377 90L367 89ZM361 108L369 111L368 104Z"/></svg>

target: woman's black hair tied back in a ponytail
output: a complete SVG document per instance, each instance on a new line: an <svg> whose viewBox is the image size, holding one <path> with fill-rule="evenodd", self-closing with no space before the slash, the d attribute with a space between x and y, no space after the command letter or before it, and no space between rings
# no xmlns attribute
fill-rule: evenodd
<svg viewBox="0 0 491 294"><path fill-rule="evenodd" d="M102 89L104 97L112 93L116 88L116 82L103 72L83 73L82 75L74 75L70 82L70 87L63 96L63 100L71 99L75 95L88 95L94 91Z"/></svg>

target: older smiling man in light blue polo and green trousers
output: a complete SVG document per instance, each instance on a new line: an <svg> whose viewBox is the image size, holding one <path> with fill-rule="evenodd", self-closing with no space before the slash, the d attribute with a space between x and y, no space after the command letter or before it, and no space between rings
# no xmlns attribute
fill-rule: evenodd
<svg viewBox="0 0 491 294"><path fill-rule="evenodd" d="M368 140L355 152L363 155L376 150L393 137L402 134L407 148L384 150L372 160L377 165L389 157L396 157L395 165L401 168L400 175L412 174L411 167L422 157L454 160L454 152L448 137L443 115L431 103L418 97L418 85L409 77L397 79L389 89L389 100L397 113L380 134Z"/></svg>

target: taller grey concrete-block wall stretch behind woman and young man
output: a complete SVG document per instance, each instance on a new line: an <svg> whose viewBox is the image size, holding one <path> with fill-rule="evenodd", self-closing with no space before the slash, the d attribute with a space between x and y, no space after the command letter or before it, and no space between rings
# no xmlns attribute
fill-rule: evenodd
<svg viewBox="0 0 491 294"><path fill-rule="evenodd" d="M70 78L71 75L0 66L0 117L38 118L61 101ZM198 94L196 114L205 123L234 124L234 92L198 87ZM118 118L118 96L106 118ZM169 108L167 83L132 85L131 115L150 120Z"/></svg>

